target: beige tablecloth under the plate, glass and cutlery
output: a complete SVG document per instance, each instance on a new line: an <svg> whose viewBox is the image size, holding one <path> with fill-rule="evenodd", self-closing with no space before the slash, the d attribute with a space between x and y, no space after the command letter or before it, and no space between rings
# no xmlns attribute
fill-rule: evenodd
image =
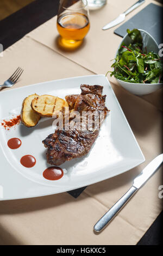
<svg viewBox="0 0 163 256"><path fill-rule="evenodd" d="M101 27L134 2L124 0L122 5L122 1L110 0L101 10L91 11L91 30L85 44L71 53L62 52L55 45L58 33L54 17L4 51L0 58L0 82L17 66L25 71L14 88L59 78L105 74L121 38L113 34L115 28L104 32ZM146 5L149 2L153 1L146 1ZM127 19L144 7L145 4ZM87 187L77 199L61 193L0 202L2 245L135 245L161 212L160 169L101 234L93 233L96 221L129 189L142 168L162 152L161 92L138 97L120 87L114 78L110 82L146 161L127 173Z"/></svg>

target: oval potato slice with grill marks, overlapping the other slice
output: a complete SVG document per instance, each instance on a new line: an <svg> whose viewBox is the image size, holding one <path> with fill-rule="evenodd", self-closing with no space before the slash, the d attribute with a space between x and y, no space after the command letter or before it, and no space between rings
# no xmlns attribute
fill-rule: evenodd
<svg viewBox="0 0 163 256"><path fill-rule="evenodd" d="M42 117L52 117L59 111L68 108L68 103L59 97L52 95L41 95L32 101L32 109Z"/></svg>

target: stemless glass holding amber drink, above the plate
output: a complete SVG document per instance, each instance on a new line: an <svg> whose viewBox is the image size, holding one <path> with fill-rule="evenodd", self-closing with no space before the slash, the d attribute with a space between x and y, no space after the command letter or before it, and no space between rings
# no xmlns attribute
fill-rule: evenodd
<svg viewBox="0 0 163 256"><path fill-rule="evenodd" d="M60 0L57 29L59 46L67 50L79 47L90 29L86 0Z"/></svg>

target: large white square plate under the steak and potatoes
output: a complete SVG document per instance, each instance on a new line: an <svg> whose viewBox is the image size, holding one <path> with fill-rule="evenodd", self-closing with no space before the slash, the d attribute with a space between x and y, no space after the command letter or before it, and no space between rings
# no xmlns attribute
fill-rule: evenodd
<svg viewBox="0 0 163 256"><path fill-rule="evenodd" d="M145 161L104 75L67 78L1 92L0 121L11 118L13 114L20 114L22 101L30 94L50 94L64 99L68 94L80 94L80 84L103 86L106 107L110 109L106 125L102 125L90 153L61 164L64 176L60 180L46 180L42 173L49 165L46 161L47 149L42 140L53 133L53 119L42 118L33 128L20 124L10 131L0 125L0 200L39 197L74 190L126 172ZM22 145L11 150L7 142L15 137L21 139ZM24 155L35 157L36 164L33 168L21 165L20 159Z"/></svg>

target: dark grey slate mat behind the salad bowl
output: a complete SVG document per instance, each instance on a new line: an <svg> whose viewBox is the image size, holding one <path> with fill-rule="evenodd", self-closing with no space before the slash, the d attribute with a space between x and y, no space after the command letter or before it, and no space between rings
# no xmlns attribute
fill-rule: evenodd
<svg viewBox="0 0 163 256"><path fill-rule="evenodd" d="M152 3L148 4L147 7L118 27L114 33L123 37L127 34L127 28L130 30L134 28L143 29L151 34L158 44L161 44L163 42L162 14L162 7Z"/></svg>

